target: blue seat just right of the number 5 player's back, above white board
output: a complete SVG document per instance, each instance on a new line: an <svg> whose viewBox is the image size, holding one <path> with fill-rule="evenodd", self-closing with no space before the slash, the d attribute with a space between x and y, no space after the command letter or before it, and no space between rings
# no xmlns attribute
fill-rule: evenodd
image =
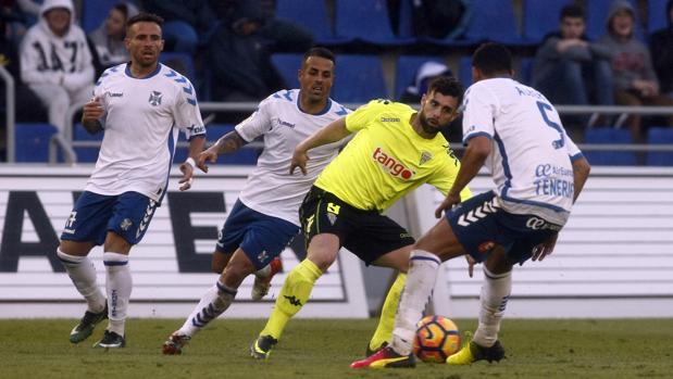
<svg viewBox="0 0 673 379"><path fill-rule="evenodd" d="M586 143L595 144L631 144L631 131L610 127L587 129ZM584 155L591 165L596 166L633 166L636 155L631 151L585 151Z"/></svg>

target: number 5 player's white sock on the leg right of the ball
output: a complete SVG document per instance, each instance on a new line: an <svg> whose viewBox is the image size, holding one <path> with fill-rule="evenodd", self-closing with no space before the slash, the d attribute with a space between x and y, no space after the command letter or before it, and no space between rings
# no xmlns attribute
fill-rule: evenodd
<svg viewBox="0 0 673 379"><path fill-rule="evenodd" d="M490 348L498 340L500 321L504 315L507 301L512 292L512 271L493 274L484 266L484 285L479 302L479 326L472 339L476 344Z"/></svg>

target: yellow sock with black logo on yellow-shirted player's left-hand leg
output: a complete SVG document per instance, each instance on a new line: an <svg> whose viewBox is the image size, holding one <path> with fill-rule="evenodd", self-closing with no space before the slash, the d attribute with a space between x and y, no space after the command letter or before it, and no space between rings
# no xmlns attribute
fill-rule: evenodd
<svg viewBox="0 0 673 379"><path fill-rule="evenodd" d="M287 275L276 304L260 336L281 339L287 321L307 303L315 280L323 271L311 261L303 260Z"/></svg>

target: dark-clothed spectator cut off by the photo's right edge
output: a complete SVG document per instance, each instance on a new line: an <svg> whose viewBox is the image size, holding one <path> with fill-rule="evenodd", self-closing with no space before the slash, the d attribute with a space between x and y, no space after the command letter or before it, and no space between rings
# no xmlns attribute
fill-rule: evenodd
<svg viewBox="0 0 673 379"><path fill-rule="evenodd" d="M649 11L659 10L650 9ZM669 21L668 27L652 33L650 51L661 92L673 98L673 0L666 3L666 20Z"/></svg>

